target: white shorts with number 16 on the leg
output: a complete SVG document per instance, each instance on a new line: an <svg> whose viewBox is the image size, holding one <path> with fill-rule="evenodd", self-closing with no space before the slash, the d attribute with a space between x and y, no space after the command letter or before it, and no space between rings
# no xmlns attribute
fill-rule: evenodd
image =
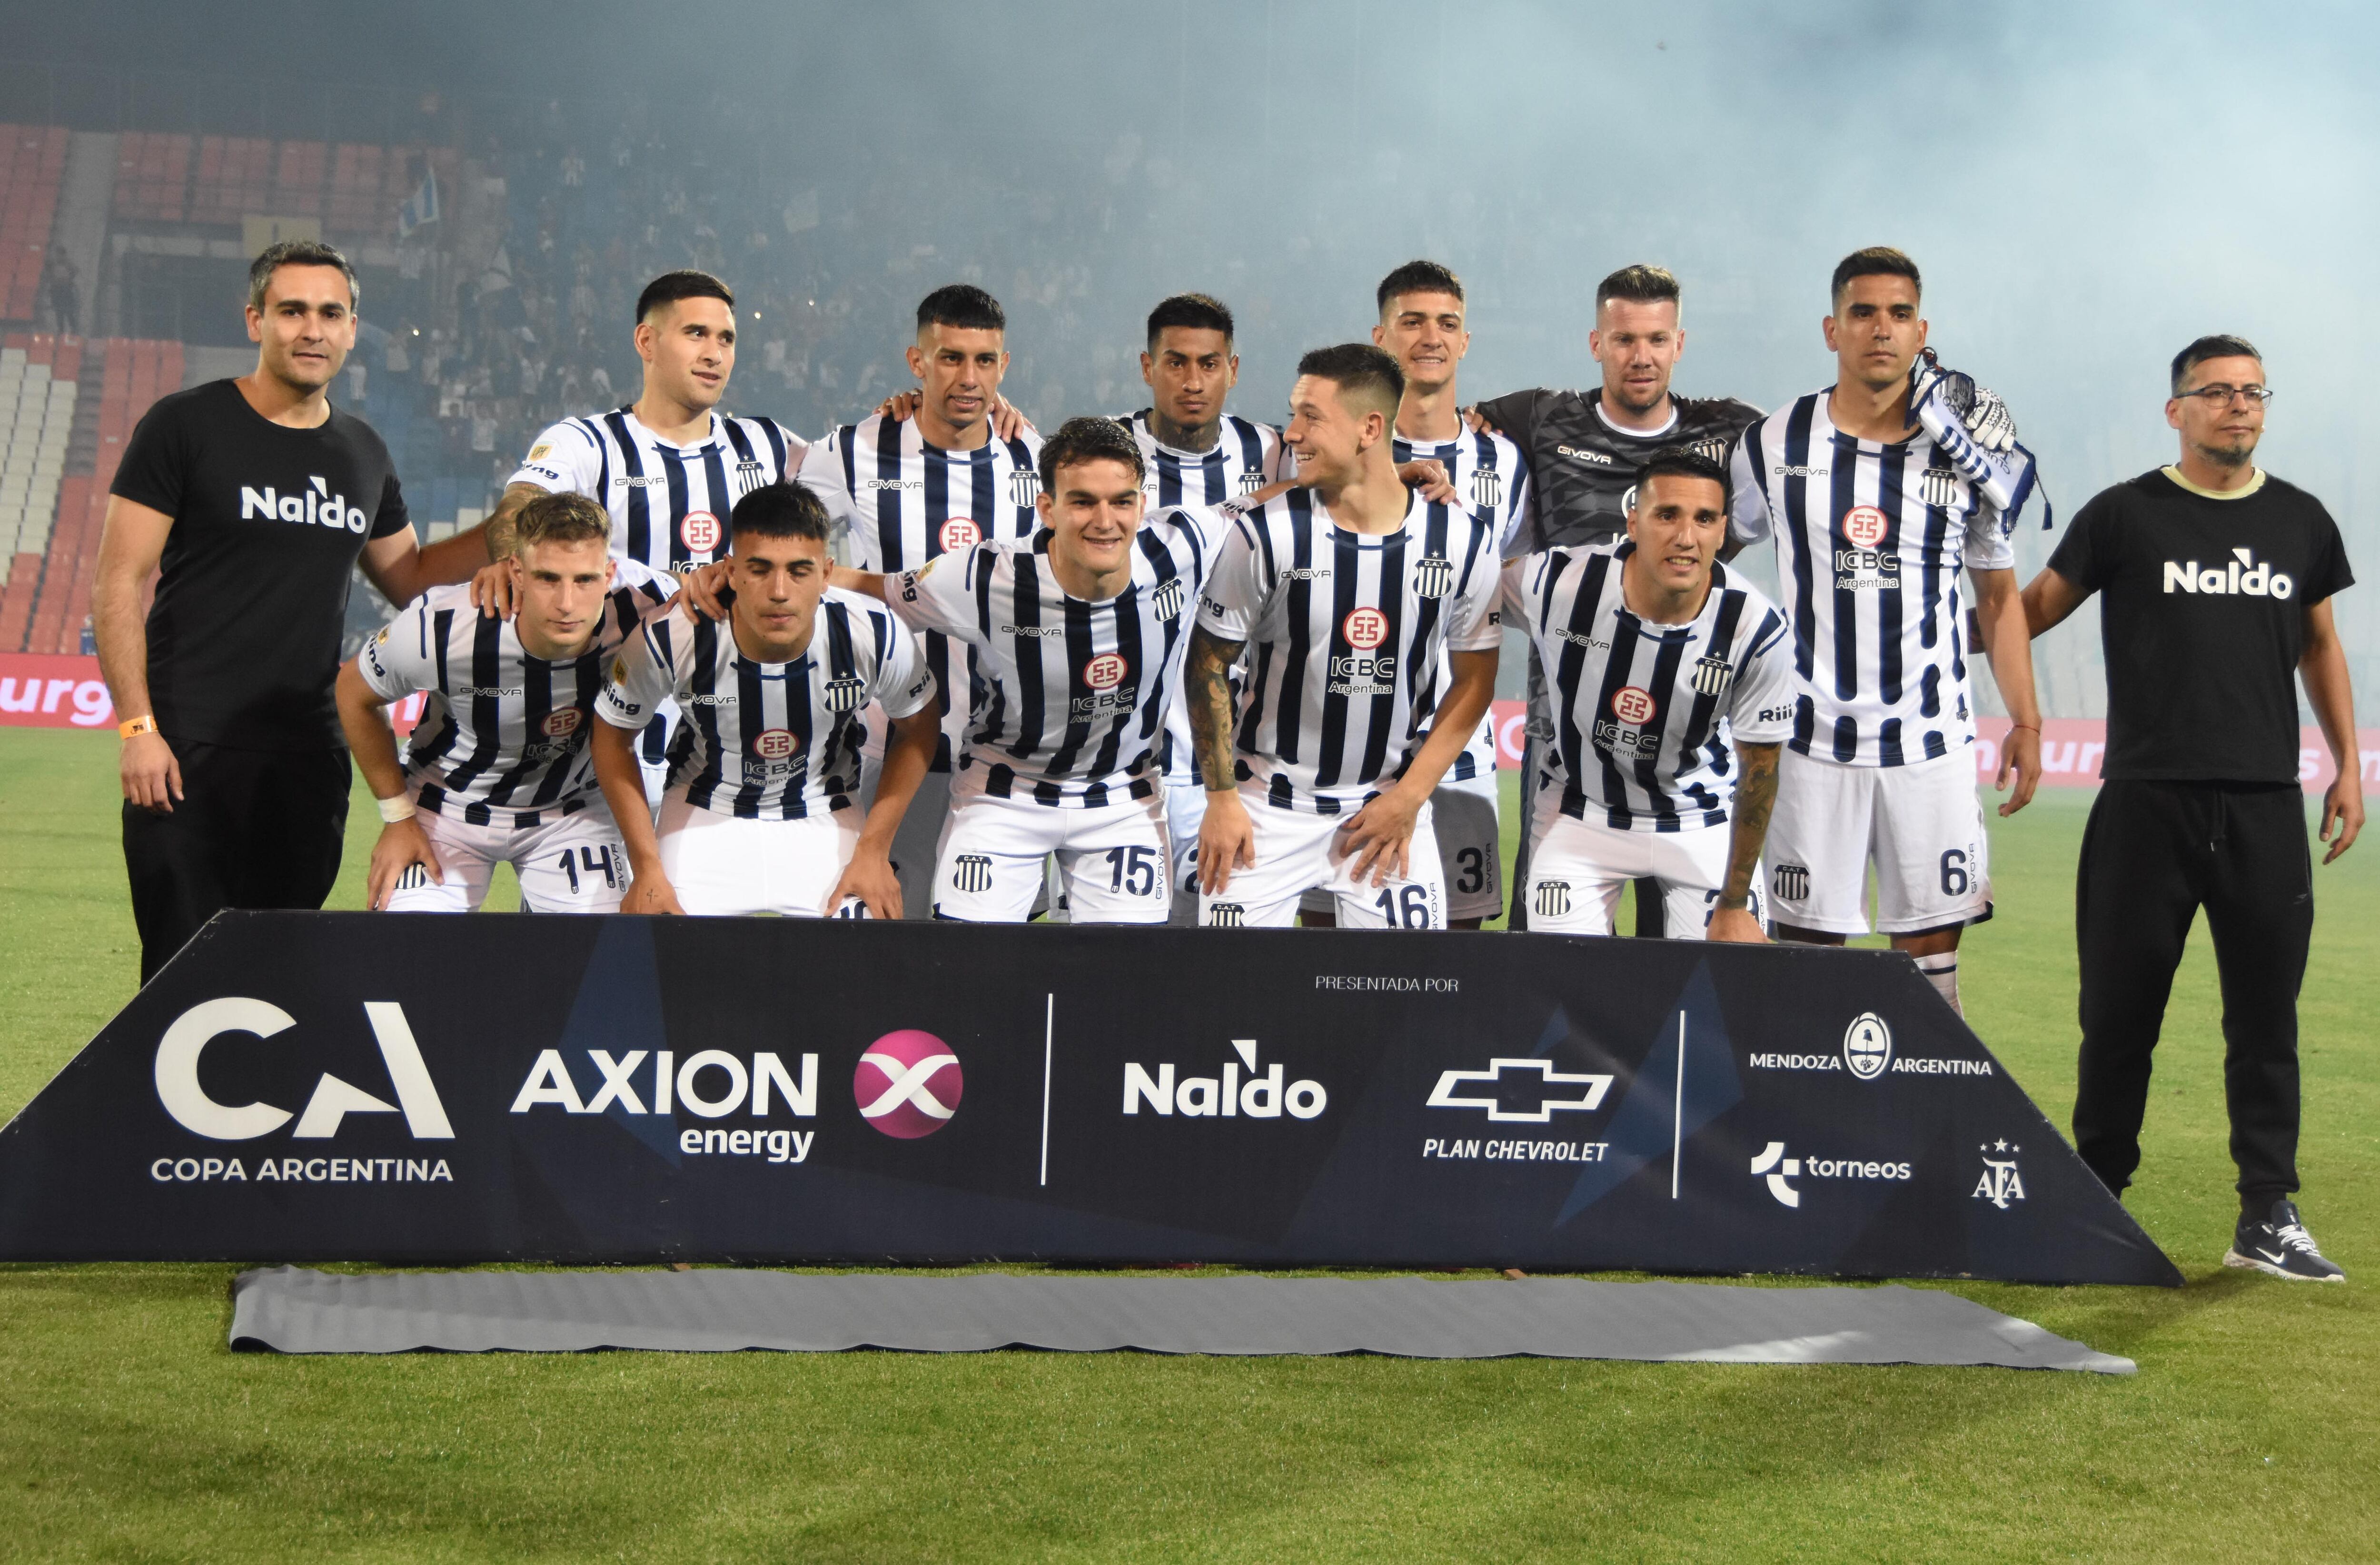
<svg viewBox="0 0 2380 1565"><path fill-rule="evenodd" d="M1297 920L1297 899L1309 887L1333 897L1342 930L1442 930L1447 882L1438 863L1438 828L1430 806L1414 818L1411 880L1371 885L1354 878L1357 856L1345 832L1354 813L1314 816L1266 802L1261 783L1240 785L1240 804L1254 825L1257 863L1230 873L1216 894L1200 892L1197 920L1226 928L1285 930Z"/></svg>

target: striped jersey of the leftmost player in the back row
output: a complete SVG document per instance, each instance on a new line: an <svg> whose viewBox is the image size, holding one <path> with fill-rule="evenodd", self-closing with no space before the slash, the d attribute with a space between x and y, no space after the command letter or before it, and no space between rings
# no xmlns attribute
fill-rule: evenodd
<svg viewBox="0 0 2380 1565"><path fill-rule="evenodd" d="M614 554L683 573L724 559L735 502L790 478L807 450L776 419L726 414L712 414L702 440L678 445L616 407L550 426L507 483L595 499L612 511Z"/></svg>

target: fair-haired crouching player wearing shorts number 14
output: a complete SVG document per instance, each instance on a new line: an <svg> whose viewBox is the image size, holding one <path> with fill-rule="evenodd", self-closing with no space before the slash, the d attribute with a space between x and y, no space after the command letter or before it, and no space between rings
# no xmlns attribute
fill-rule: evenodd
<svg viewBox="0 0 2380 1565"><path fill-rule="evenodd" d="M585 495L519 514L514 618L471 587L436 587L338 671L338 721L381 802L367 906L469 913L512 863L533 913L609 913L628 885L619 830L588 766L602 666L674 580L605 549ZM428 692L405 763L386 706ZM643 806L635 811L643 818Z"/></svg>

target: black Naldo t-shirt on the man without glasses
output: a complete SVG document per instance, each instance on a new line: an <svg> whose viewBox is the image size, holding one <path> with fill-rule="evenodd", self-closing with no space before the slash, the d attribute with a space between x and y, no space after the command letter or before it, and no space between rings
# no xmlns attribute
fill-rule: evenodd
<svg viewBox="0 0 2380 1565"><path fill-rule="evenodd" d="M114 495L164 511L148 675L167 740L338 749L338 640L364 540L409 523L378 433L264 419L231 381L159 397Z"/></svg>

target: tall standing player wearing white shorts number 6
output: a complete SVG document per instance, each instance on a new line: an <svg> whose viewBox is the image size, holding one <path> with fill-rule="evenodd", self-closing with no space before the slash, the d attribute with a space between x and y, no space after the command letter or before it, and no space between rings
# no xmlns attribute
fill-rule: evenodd
<svg viewBox="0 0 2380 1565"><path fill-rule="evenodd" d="M1842 944L1875 925L1959 1008L1959 932L1992 916L1975 799L1966 597L2013 728L1997 785L2040 780L2042 718L2016 592L2013 514L1923 428L1911 402L1925 347L1918 269L1899 250L1835 266L1830 390L1797 397L1735 450L1735 538L1775 538L1795 628L1795 725L1768 832L1768 909L1780 939Z"/></svg>

